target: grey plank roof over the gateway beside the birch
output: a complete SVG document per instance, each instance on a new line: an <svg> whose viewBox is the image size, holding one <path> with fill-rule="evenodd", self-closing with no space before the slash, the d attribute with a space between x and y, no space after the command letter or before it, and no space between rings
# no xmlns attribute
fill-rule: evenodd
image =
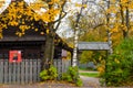
<svg viewBox="0 0 133 88"><path fill-rule="evenodd" d="M79 51L109 51L110 45L108 42L79 42Z"/></svg>

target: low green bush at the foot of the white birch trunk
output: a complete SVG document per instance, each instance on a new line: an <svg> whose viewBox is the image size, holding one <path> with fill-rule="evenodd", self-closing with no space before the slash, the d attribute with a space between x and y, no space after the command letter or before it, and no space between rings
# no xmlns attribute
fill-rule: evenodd
<svg viewBox="0 0 133 88"><path fill-rule="evenodd" d="M83 82L78 75L78 67L69 67L66 73L62 74L62 79L69 82L74 82L76 86L82 86Z"/></svg>

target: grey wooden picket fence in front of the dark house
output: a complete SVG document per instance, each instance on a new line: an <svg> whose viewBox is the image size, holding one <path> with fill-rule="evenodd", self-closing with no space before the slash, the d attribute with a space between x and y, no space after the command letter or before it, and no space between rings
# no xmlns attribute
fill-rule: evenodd
<svg viewBox="0 0 133 88"><path fill-rule="evenodd" d="M71 61L54 59L58 69L58 79L71 66ZM23 59L21 63L9 63L0 59L0 84L32 84L40 81L41 59Z"/></svg>

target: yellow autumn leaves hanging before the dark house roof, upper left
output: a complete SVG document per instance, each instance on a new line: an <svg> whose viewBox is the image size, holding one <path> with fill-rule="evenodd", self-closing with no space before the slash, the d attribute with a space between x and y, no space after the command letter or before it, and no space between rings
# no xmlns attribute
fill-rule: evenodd
<svg viewBox="0 0 133 88"><path fill-rule="evenodd" d="M24 35L24 32L30 29L34 29L34 31L38 32L39 29L34 28L32 22L40 20L45 22L45 24L53 22L61 11L60 6L63 1L65 0L51 0L49 3L42 1L43 3L34 2L31 6L28 6L24 1L12 2L7 11L0 15L3 21L0 24L0 37L2 38L2 30L8 29L8 26L18 26L19 30L16 32L18 36ZM49 8L49 4L52 7ZM45 9L44 12L40 11L42 8ZM50 30L47 29L45 32L41 32L40 34L49 32Z"/></svg>

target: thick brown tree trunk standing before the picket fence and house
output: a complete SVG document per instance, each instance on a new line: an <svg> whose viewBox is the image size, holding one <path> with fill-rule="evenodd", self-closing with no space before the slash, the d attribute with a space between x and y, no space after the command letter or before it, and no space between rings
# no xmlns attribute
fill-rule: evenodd
<svg viewBox="0 0 133 88"><path fill-rule="evenodd" d="M51 0L45 0L45 1L47 1L47 3L51 2ZM53 4L49 4L49 10L51 10L52 7L53 7ZM52 15L50 16L50 20L51 19L52 19ZM54 36L55 36L53 29L54 29L54 23L49 22L48 26L47 26L47 30L49 30L49 33L47 33L47 36L45 36L44 56L42 59L42 67L41 67L42 69L48 69L53 61Z"/></svg>

